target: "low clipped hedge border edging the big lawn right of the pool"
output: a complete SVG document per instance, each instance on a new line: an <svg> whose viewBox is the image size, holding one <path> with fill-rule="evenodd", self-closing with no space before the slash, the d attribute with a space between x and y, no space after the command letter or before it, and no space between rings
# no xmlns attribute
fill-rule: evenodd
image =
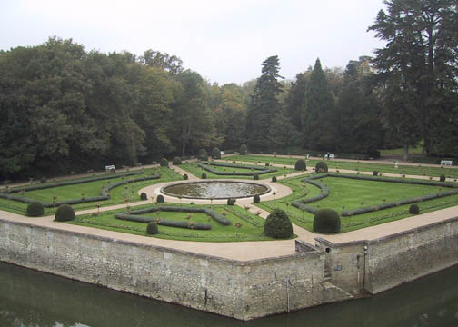
<svg viewBox="0 0 458 327"><path fill-rule="evenodd" d="M301 180L301 182L310 183L314 186L317 186L323 192L310 199L294 201L291 203L291 205L298 208L299 210L303 210L308 213L314 213L314 214L317 213L318 209L312 206L304 205L304 204L313 203L315 201L322 200L325 197L329 196L329 189L327 188L327 186L324 185L324 183L319 183L319 182L314 181L317 179L322 179L324 177L338 177L338 178L348 178L348 179L355 179L355 180L362 180L362 181L385 182L385 183L408 183L408 184L426 185L426 186L442 186L442 187L448 187L448 188L454 189L448 192L426 194L426 195L417 196L414 198L393 201L391 203L373 204L371 206L366 206L363 208L345 210L343 211L343 213L341 213L343 217L349 217L349 216L362 214L362 213L372 213L374 211L389 209L389 208L393 208L393 207L401 206L405 204L419 203L419 202L423 202L427 200L438 199L444 196L458 194L458 184L457 183L444 183L444 182L423 181L423 180L416 180L416 181L403 180L403 179L401 180L401 179L393 179L393 178L371 176L371 175L359 175L359 174L322 173L322 174L311 176L309 178L304 178L303 180Z"/></svg>

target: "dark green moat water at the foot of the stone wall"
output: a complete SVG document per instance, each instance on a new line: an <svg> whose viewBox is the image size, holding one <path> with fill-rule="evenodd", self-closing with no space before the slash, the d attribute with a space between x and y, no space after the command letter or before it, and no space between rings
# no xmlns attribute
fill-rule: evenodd
<svg viewBox="0 0 458 327"><path fill-rule="evenodd" d="M373 298L239 322L0 263L0 326L458 326L458 266Z"/></svg>

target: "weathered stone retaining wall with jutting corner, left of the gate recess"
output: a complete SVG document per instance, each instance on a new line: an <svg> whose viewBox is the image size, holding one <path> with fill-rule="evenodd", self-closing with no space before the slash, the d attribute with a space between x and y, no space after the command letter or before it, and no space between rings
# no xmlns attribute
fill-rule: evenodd
<svg viewBox="0 0 458 327"><path fill-rule="evenodd" d="M0 219L0 261L242 320L349 298L302 248L239 262Z"/></svg>

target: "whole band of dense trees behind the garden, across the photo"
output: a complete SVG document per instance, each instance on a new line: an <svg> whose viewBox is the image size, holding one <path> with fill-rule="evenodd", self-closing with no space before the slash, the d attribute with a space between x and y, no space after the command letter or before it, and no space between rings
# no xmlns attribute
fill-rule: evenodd
<svg viewBox="0 0 458 327"><path fill-rule="evenodd" d="M200 148L377 156L423 142L458 157L458 23L453 0L386 1L373 58L314 67L293 82L277 56L240 86L182 61L86 52L72 40L0 52L0 177L152 163Z"/></svg>

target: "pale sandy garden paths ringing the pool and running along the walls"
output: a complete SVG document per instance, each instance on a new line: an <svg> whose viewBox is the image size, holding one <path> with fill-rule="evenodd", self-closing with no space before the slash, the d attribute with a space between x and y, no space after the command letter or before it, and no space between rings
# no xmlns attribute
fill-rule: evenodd
<svg viewBox="0 0 458 327"><path fill-rule="evenodd" d="M254 163L249 163L249 164L254 164ZM284 165L280 165L280 166L284 166ZM183 169L177 166L172 166L172 168L178 173L181 173L181 174L187 173ZM330 169L330 171L334 171L334 170ZM342 173L346 173L346 172L355 173L353 171L346 171L346 170L340 170L340 171ZM306 173L311 173L311 172L312 170L308 170ZM289 176L300 175L303 173L304 172L293 173L293 174L290 174ZM361 172L361 173L372 174L372 172ZM192 175L191 173L187 173L187 174L189 176L189 180L198 180L198 178ZM393 176L399 177L399 174L383 173L383 175L384 176L393 175ZM410 175L406 177L422 178L422 179L428 178L425 176L410 176ZM281 178L283 178L283 176L278 177L278 179L281 179ZM250 180L249 182L253 182L253 180ZM281 185L279 183L272 183L268 180L260 180L260 181L257 181L256 183L265 183L265 184L268 184L272 188L272 191L270 193L262 195L261 197L262 201L273 200L275 197L280 198L280 197L286 196L289 193L291 193L291 190L288 187ZM168 184L168 183L158 183L155 185L145 187L144 189L140 190L139 193L145 192L149 195L149 198L151 198L152 196L157 196L157 194L159 194L159 190L165 184ZM210 203L209 200L188 200L188 199L180 200L180 199L170 197L170 196L164 196L164 197L167 202L174 202L174 203L179 203L180 201L182 203L191 203L191 202L199 203L199 204L200 203ZM259 212L259 215L265 218L268 215L268 213L262 209L255 207L253 204L251 204L251 201L252 201L251 198L239 199L237 200L236 204L242 207L249 206L250 208L247 208L247 210L250 210L253 213ZM129 205L136 206L136 205L141 205L144 203L145 202L143 201L143 202L137 202L137 203L129 203ZM225 200L214 200L213 203L214 204L226 203L226 201ZM125 207L125 205L126 204L119 204L115 206L103 207L103 208L100 208L100 211L119 209L119 208ZM85 210L85 211L80 211L77 214L94 213L96 211L97 209ZM368 227L368 228L364 228L361 230L348 232L348 233L336 234L336 235L314 234L296 225L294 225L294 233L298 236L297 239L303 240L306 243L314 244L315 237L321 237L333 243L343 243L343 242L353 242L353 241L360 241L360 240L373 240L373 239L377 239L380 237L388 236L393 233L409 231L413 228L420 227L423 225L446 221L449 219L453 219L455 217L458 217L458 206L439 210L433 213L423 213L423 214L419 214L419 215L416 215L410 218L404 218L403 220L400 220L400 221L395 221L391 223L383 223L377 226ZM30 218L30 217L25 217L25 216L15 214L15 213L8 213L5 211L0 211L0 219L6 220L6 221L27 223L27 224L36 225L36 226L43 226L47 228L54 228L58 230L72 231L76 233L87 233L87 234L91 234L95 236L108 237L108 238L113 238L116 240L123 240L127 242L145 243L145 244L151 244L151 245L160 246L160 247L174 248L176 250L185 251L185 252L203 253L207 255L213 255L213 256L223 257L227 259L238 260L238 261L263 259L263 258L274 257L274 256L291 255L295 253L294 251L295 240L239 242L239 243L187 242L187 241L163 240L163 239L157 239L154 237L146 237L146 236L140 236L140 235L134 235L134 234L128 234L128 233L105 231L105 230L100 230L96 228L78 226L78 225L73 225L73 224L68 224L68 223L58 223L54 221L53 216Z"/></svg>

